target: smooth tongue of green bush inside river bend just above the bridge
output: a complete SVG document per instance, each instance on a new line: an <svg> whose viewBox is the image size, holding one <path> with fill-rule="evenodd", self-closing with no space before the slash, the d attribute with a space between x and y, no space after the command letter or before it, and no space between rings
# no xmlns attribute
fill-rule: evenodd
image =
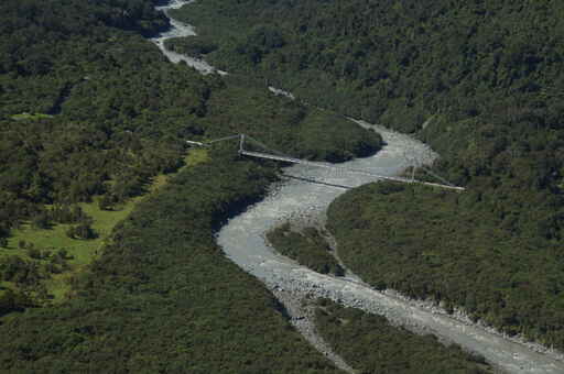
<svg viewBox="0 0 564 374"><path fill-rule="evenodd" d="M227 76L206 102L202 125L208 136L245 133L293 156L343 162L380 150L378 133L351 125L343 116L265 94L245 77ZM259 150L261 150L259 147Z"/></svg>

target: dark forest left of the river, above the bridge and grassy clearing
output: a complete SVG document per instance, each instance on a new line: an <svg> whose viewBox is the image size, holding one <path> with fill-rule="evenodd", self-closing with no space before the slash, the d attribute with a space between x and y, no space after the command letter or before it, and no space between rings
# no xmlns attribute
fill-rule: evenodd
<svg viewBox="0 0 564 374"><path fill-rule="evenodd" d="M152 1L8 0L0 14L4 254L17 248L7 240L13 229L28 223L34 230L73 224L68 238L95 239L91 219L74 215L77 204L118 210L145 193L155 175L184 164L186 139L242 132L290 154L330 161L380 146L378 134L333 112L243 79L203 77L167 63L141 36L166 25ZM57 265L64 256L43 255L59 250L35 248L33 255L1 260L0 282L31 296L68 270Z"/></svg>

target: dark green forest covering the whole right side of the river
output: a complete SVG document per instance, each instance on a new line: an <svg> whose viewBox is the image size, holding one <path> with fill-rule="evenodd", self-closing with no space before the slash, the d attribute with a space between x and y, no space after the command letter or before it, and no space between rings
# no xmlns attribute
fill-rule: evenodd
<svg viewBox="0 0 564 374"><path fill-rule="evenodd" d="M207 59L412 132L468 188L348 193L332 208L347 265L564 349L563 2L208 0L177 14L217 45Z"/></svg>

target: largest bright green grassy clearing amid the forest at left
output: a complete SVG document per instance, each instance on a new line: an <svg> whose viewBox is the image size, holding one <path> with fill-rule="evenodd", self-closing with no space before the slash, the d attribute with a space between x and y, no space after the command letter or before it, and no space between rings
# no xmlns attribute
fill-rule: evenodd
<svg viewBox="0 0 564 374"><path fill-rule="evenodd" d="M185 167L205 163L208 161L206 150L192 150L185 157ZM153 178L152 183L148 186L147 193L128 200L113 210L101 210L98 206L98 197L93 202L78 204L83 211L91 217L94 220L93 229L98 237L91 240L76 240L66 235L66 231L72 224L56 224L51 229L33 229L29 222L23 223L19 229L12 231L11 238L8 240L7 248L0 248L0 257L7 255L18 255L24 260L32 260L29 255L28 249L20 249L19 243L33 244L33 248L40 251L51 251L53 253L65 250L68 254L68 270L61 274L53 274L50 279L44 282L47 293L53 296L52 301L58 302L65 298L65 295L70 290L68 279L76 273L84 270L90 264L100 253L108 240L110 240L111 232L116 224L126 219L135 205L148 196L154 194L159 188L166 185L169 178L174 174L161 174ZM47 262L48 260L34 260L39 262ZM14 284L8 282L0 282L1 288L17 288Z"/></svg>

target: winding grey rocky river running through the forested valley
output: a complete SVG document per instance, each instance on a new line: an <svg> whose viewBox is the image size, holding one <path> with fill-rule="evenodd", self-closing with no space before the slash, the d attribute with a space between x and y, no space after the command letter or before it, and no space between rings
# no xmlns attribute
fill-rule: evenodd
<svg viewBox="0 0 564 374"><path fill-rule="evenodd" d="M173 0L158 9L166 13L167 9L180 8L185 3L188 1ZM171 20L171 24L170 31L151 40L171 62L184 61L203 74L227 74L216 70L204 61L167 51L164 47L166 38L195 35L194 28L188 24L174 20ZM436 157L425 144L408 135L362 121L355 122L373 128L387 145L371 157L352 160L343 166L397 176L410 166L409 160L429 164ZM265 243L264 235L269 230L289 219L323 224L325 211L337 196L348 187L375 182L359 174L335 175L325 168L304 165L289 167L284 173L293 178L284 178L272 186L262 201L230 219L217 233L217 242L228 258L259 278L281 300L296 329L337 366L354 373L315 333L312 312L302 305L302 300L326 297L344 306L384 316L393 324L403 326L416 333L433 333L445 343L457 343L509 373L564 373L564 362L556 352L505 337L490 328L473 323L462 315L449 316L430 302L410 300L393 290L378 292L354 275L322 275L278 254Z"/></svg>

